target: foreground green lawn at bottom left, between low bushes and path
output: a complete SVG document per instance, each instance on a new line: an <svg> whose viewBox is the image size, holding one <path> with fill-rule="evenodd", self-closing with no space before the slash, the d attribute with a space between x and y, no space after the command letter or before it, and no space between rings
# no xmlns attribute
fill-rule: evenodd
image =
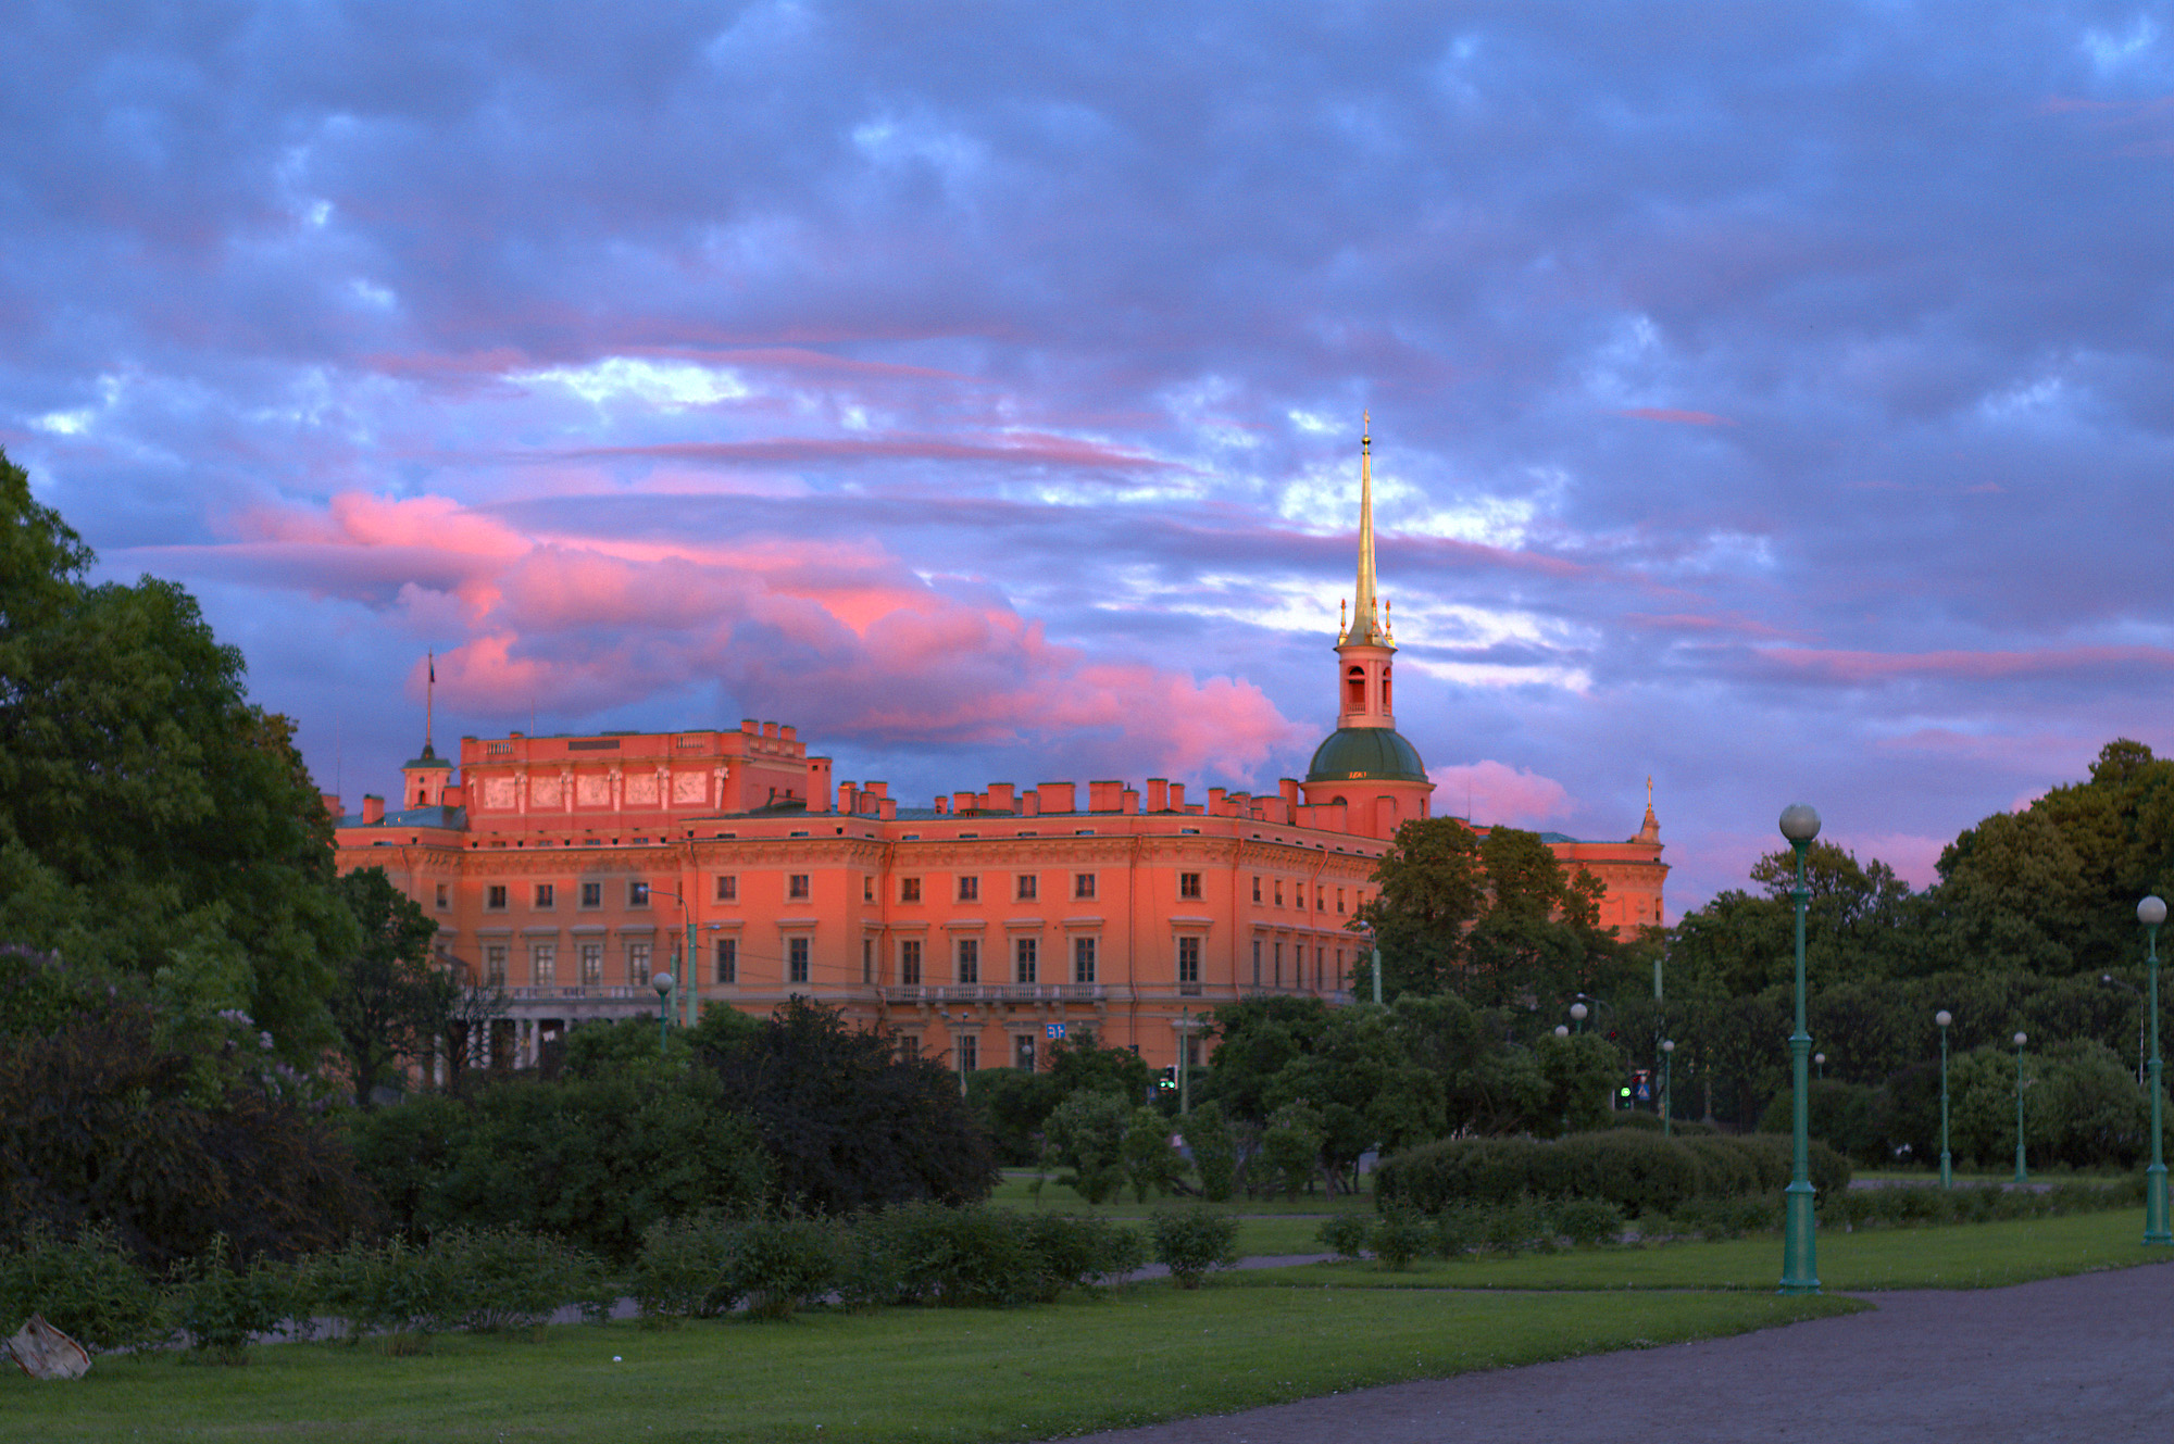
<svg viewBox="0 0 2174 1444"><path fill-rule="evenodd" d="M546 1329L535 1342L259 1348L248 1368L102 1359L0 1379L22 1440L1020 1440L1648 1348L1846 1314L1767 1294L1137 1287L1044 1309L804 1314L789 1324ZM622 1355L624 1364L613 1364Z"/></svg>

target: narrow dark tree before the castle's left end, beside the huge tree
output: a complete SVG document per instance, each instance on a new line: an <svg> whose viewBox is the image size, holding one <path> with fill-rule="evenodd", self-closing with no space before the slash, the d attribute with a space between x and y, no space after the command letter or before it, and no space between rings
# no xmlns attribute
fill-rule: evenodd
<svg viewBox="0 0 2174 1444"><path fill-rule="evenodd" d="M350 872L339 879L339 894L354 913L359 942L335 972L333 1026L354 1100L367 1109L400 1063L437 1046L461 983L430 961L437 922L383 868Z"/></svg>

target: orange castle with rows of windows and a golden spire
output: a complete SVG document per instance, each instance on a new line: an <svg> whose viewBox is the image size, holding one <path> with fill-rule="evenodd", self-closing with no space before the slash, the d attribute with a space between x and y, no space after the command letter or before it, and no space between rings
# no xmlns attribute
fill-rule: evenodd
<svg viewBox="0 0 2174 1444"><path fill-rule="evenodd" d="M657 1016L659 972L683 1018L800 994L961 1070L1033 1068L1085 1029L1157 1068L1202 1061L1222 1003L1350 998L1370 944L1348 924L1396 829L1430 809L1391 711L1370 455L1337 731L1304 781L991 783L900 807L883 783L833 783L776 722L463 737L459 770L426 744L400 807L339 816L339 870L383 868L437 920L448 966L502 992L476 1040L498 1066L589 1020ZM1626 842L1546 839L1604 883L1604 926L1661 922L1650 805Z"/></svg>

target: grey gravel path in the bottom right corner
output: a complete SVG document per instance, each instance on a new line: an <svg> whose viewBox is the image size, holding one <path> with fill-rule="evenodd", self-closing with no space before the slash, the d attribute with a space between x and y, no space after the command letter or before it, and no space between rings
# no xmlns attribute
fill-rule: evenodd
<svg viewBox="0 0 2174 1444"><path fill-rule="evenodd" d="M1087 1435L1104 1444L2091 1442L2174 1435L2174 1261Z"/></svg>

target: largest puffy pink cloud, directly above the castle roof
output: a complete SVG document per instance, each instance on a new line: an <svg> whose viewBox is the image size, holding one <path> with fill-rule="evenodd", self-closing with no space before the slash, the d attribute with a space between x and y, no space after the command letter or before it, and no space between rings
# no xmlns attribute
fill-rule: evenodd
<svg viewBox="0 0 2174 1444"><path fill-rule="evenodd" d="M548 698L580 715L715 681L820 746L1085 735L1172 776L1265 781L1307 742L1252 683L1057 646L1000 598L937 589L872 542L524 533L437 496L361 494L243 524L243 542L174 550L407 611L437 635L457 626L439 700L470 713L517 718Z"/></svg>

